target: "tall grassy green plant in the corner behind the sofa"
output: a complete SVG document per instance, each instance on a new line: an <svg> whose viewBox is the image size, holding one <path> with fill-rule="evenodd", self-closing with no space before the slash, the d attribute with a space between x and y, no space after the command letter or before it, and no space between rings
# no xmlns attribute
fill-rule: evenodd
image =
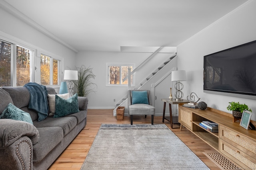
<svg viewBox="0 0 256 170"><path fill-rule="evenodd" d="M95 78L92 68L86 68L82 65L80 68L76 67L76 69L78 70L78 80L73 80L73 82L78 96L86 97L90 92L95 92L92 86L96 84L91 81L92 78Z"/></svg>

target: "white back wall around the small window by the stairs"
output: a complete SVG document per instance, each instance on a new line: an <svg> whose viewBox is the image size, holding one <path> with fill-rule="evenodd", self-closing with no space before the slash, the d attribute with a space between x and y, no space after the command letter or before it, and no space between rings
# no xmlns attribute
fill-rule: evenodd
<svg viewBox="0 0 256 170"><path fill-rule="evenodd" d="M127 95L127 86L106 86L106 63L135 63L138 66L142 61L148 58L152 53L124 53L124 52L79 52L76 56L76 67L84 65L93 68L93 73L96 75L95 80L97 84L95 93L90 93L87 97L89 99L90 109L113 109L118 102L125 95ZM136 73L136 84L140 83L142 79L151 74L155 68L160 66L164 61L170 57L171 54L160 53ZM168 89L169 90L169 89ZM116 102L114 102L114 99Z"/></svg>

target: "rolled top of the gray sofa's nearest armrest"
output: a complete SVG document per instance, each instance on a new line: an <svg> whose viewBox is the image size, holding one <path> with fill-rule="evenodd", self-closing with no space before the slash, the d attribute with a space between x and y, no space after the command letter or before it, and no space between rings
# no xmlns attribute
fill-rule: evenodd
<svg viewBox="0 0 256 170"><path fill-rule="evenodd" d="M5 148L22 136L30 138L32 145L38 143L39 132L36 127L25 121L0 119L0 147Z"/></svg>

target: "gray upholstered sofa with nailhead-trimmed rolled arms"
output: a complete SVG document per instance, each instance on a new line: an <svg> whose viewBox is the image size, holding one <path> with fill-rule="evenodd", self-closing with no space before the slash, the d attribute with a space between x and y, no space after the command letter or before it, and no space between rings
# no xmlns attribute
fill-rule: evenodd
<svg viewBox="0 0 256 170"><path fill-rule="evenodd" d="M47 87L48 94L56 94ZM46 170L86 125L88 99L78 97L79 112L64 117L46 117L29 109L30 92L25 87L0 88L0 113L9 103L30 114L33 121L0 119L0 170Z"/></svg>

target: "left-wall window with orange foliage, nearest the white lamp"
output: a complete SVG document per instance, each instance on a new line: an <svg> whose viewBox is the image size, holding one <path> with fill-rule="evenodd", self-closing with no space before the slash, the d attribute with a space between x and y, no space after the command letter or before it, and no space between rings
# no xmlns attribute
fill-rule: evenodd
<svg viewBox="0 0 256 170"><path fill-rule="evenodd" d="M41 68L41 84L43 85L57 85L58 84L58 68L60 61L53 59L47 55L41 54L40 68Z"/></svg>

